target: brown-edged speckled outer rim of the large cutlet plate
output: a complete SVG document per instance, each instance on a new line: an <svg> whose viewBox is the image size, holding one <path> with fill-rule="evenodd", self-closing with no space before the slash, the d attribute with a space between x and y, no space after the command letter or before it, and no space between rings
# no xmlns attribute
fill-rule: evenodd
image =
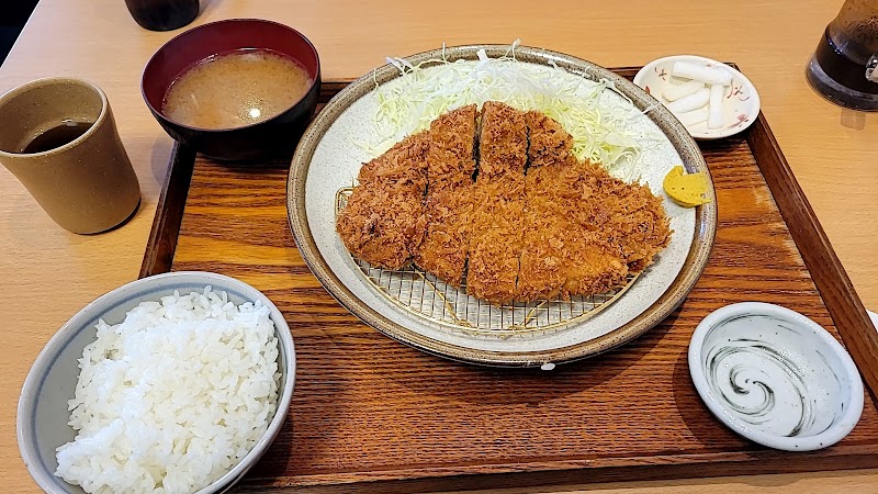
<svg viewBox="0 0 878 494"><path fill-rule="evenodd" d="M466 45L446 47L413 55L406 57L406 59L414 65L442 58L443 56L447 60L461 58L474 60L477 59L480 49L484 49L489 57L498 57L507 54L509 46ZM382 85L399 77L398 70L392 65L379 67L342 89L311 123L293 155L286 183L286 209L293 237L305 263L341 305L368 325L401 343L452 360L498 367L536 367L549 362L555 364L570 362L616 348L650 330L679 306L700 278L710 256L710 250L713 247L717 233L717 198L710 170L695 139L669 111L661 104L656 104L657 101L641 88L604 67L558 52L518 46L516 47L516 57L519 60L533 64L555 64L569 72L582 75L593 80L607 79L612 81L616 88L630 98L640 110L653 108L649 113L650 119L668 138L679 154L686 169L689 172L702 171L710 179L707 197L711 202L696 209L695 235L683 269L658 300L627 324L598 338L545 351L472 349L428 338L390 321L353 295L338 279L320 255L308 226L305 206L305 184L308 167L320 139L341 113L353 102L374 90L375 83Z"/></svg>

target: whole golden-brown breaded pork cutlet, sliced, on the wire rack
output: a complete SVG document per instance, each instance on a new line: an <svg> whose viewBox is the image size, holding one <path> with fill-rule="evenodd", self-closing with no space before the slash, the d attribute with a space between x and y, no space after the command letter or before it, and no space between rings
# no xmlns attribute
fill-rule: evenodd
<svg viewBox="0 0 878 494"><path fill-rule="evenodd" d="M338 222L354 256L455 287L465 272L470 294L500 303L621 288L667 245L662 200L577 160L542 113L485 103L476 172L476 117L448 113L363 166Z"/></svg>

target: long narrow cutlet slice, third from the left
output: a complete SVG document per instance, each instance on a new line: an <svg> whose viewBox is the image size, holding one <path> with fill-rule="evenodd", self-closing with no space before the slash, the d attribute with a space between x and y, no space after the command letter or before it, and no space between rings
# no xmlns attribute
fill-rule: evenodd
<svg viewBox="0 0 878 494"><path fill-rule="evenodd" d="M524 112L503 103L485 103L466 291L492 303L518 297L518 261L525 233L527 137Z"/></svg>

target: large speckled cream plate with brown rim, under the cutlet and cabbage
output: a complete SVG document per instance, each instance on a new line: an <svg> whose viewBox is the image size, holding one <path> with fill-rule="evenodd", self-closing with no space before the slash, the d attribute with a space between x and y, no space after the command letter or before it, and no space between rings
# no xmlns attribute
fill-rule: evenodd
<svg viewBox="0 0 878 494"><path fill-rule="evenodd" d="M477 59L484 49L488 57L509 53L506 45L475 45L437 49L408 57L428 71L435 61ZM517 47L516 59L545 70L550 77L586 78L611 81L642 113L631 109L631 131L644 141L640 162L642 179L654 194L664 197L662 180L675 165L689 172L710 172L695 141L674 116L643 90L618 75L569 55L539 48ZM558 71L553 66L564 69ZM402 76L407 77L407 76ZM351 258L335 231L337 193L350 187L361 165L373 156L361 143L379 137L373 123L378 109L376 91L392 88L402 79L399 70L387 65L367 74L337 94L305 132L293 156L288 182L290 225L302 257L311 270L345 307L391 338L424 351L472 363L533 367L589 357L642 335L676 308L691 290L707 263L717 228L717 206L712 182L708 204L683 209L665 200L665 211L674 229L671 245L655 262L629 285L612 304L588 318L574 319L558 330L521 337L484 337L449 328L401 306L370 282ZM376 89L376 87L379 89ZM616 108L622 97L604 91L601 103Z"/></svg>

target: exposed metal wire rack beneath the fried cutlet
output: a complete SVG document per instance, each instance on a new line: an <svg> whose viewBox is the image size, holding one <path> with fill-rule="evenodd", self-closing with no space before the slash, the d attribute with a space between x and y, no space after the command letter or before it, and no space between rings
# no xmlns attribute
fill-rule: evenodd
<svg viewBox="0 0 878 494"><path fill-rule="evenodd" d="M336 216L352 192L352 187L338 190ZM414 265L390 270L351 258L369 282L393 304L470 336L508 338L563 329L608 307L638 278L637 274L629 276L624 287L598 295L493 305L469 295L465 284L454 288Z"/></svg>

